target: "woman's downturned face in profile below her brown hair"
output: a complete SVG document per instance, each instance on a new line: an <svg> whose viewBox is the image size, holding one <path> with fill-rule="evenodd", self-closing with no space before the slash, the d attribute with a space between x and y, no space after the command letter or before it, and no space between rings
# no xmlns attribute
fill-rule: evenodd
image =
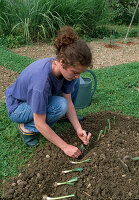
<svg viewBox="0 0 139 200"><path fill-rule="evenodd" d="M72 81L73 79L80 78L80 74L85 72L86 69L87 67L83 67L80 65L78 65L77 67L68 67L67 69L61 66L60 72L66 80Z"/></svg>

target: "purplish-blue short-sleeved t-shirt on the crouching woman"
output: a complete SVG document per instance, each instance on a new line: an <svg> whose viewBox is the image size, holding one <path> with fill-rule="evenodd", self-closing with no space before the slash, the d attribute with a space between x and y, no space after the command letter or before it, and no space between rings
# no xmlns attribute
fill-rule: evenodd
<svg viewBox="0 0 139 200"><path fill-rule="evenodd" d="M52 72L54 59L45 58L33 62L21 72L16 82L6 89L9 114L23 102L32 107L33 113L45 114L49 96L59 92L72 93L75 80L57 79Z"/></svg>

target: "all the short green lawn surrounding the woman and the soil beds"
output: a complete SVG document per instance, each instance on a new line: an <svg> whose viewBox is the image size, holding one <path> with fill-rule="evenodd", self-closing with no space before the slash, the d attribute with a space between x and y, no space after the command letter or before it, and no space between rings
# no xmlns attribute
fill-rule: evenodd
<svg viewBox="0 0 139 200"><path fill-rule="evenodd" d="M16 55L0 48L0 65L11 70L21 72L34 60L28 57ZM135 118L139 118L139 63L128 63L94 70L97 76L97 90L89 107L77 110L78 114L87 115L102 110L111 110ZM90 76L84 73L84 76ZM57 133L67 128L67 124L54 127ZM47 145L41 136L40 144ZM8 179L24 170L26 161L32 157L35 148L26 147L17 133L17 125L7 115L6 105L1 102L0 106L0 180Z"/></svg>

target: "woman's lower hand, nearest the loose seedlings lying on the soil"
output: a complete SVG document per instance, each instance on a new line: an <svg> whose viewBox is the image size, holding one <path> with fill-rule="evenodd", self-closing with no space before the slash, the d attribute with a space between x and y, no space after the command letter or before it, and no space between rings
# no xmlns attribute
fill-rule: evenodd
<svg viewBox="0 0 139 200"><path fill-rule="evenodd" d="M77 147L70 144L67 144L67 146L62 150L66 155L72 158L78 158L81 155L81 151Z"/></svg>

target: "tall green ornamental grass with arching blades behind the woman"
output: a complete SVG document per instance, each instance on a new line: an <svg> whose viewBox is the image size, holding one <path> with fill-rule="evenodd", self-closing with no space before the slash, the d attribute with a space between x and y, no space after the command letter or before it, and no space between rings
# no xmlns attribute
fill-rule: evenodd
<svg viewBox="0 0 139 200"><path fill-rule="evenodd" d="M46 41L62 25L92 35L106 13L106 0L0 0L0 35L23 35L26 43Z"/></svg>

